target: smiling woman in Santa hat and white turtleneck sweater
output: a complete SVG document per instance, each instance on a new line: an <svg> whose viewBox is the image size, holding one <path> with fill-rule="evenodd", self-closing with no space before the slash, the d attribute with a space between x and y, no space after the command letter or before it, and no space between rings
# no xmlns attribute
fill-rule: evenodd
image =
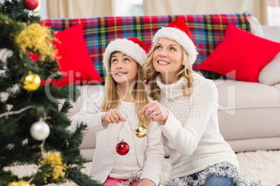
<svg viewBox="0 0 280 186"><path fill-rule="evenodd" d="M171 180L164 185L242 183L236 155L219 133L217 88L192 70L196 56L189 28L178 18L157 31L143 65L154 101L140 114L159 121L171 154Z"/></svg>

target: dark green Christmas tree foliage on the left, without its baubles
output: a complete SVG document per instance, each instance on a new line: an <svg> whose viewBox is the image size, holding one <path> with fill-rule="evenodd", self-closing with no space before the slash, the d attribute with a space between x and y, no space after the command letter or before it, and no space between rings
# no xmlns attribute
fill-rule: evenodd
<svg viewBox="0 0 280 186"><path fill-rule="evenodd" d="M15 43L21 31L39 21L38 15L22 7L22 1L0 3L0 49L13 51L5 62L0 60L0 70L5 71L0 75L0 93L7 96L6 99L0 99L0 186L19 181L12 172L5 171L5 167L15 164L37 164L40 171L33 176L21 178L32 180L31 183L36 185L63 183L66 179L83 186L98 185L81 173L86 160L81 156L79 145L86 125L80 124L75 132L68 130L70 120L66 114L72 108L70 101L75 102L79 95L77 87L69 85L59 88L47 84L31 92L22 87L23 79L30 71L38 74L41 81L54 74L54 79L62 78L54 56L42 56L32 46L23 50ZM34 61L30 53L38 55L38 60ZM42 141L31 137L30 128L40 119L50 128L44 151L60 152L63 164L67 165L64 176L58 179L53 179L50 174L53 169L51 164L40 165Z"/></svg>

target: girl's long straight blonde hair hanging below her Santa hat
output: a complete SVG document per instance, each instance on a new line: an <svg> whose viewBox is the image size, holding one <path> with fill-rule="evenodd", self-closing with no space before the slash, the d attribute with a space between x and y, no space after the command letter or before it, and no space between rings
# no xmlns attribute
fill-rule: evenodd
<svg viewBox="0 0 280 186"><path fill-rule="evenodd" d="M114 52L116 53L116 52ZM111 53L111 56L114 54ZM146 85L144 83L144 74L143 74L143 69L141 65L137 62L137 78L134 81L134 87L133 87L133 92L135 95L134 101L135 101L135 110L137 112L137 116L139 118L139 121L141 124L148 125L150 124L150 119L148 119L146 116L139 115L139 111L141 108L143 108L144 105L149 103L148 97L146 94ZM105 82L105 96L104 96L104 101L102 103L102 110L104 112L107 112L110 109L116 109L118 108L118 105L120 104L120 98L117 92L116 88L116 81L114 81L114 78L111 76L111 57L109 60L109 65L108 65L108 72L106 76L106 82Z"/></svg>

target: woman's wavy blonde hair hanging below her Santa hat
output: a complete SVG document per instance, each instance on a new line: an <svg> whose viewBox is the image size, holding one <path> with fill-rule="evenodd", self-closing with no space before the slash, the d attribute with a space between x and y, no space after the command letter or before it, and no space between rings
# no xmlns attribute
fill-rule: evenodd
<svg viewBox="0 0 280 186"><path fill-rule="evenodd" d="M144 73L147 75L147 78L150 82L150 96L153 100L160 100L160 87L157 86L157 83L155 82L157 75L160 74L160 72L155 71L155 68L153 66L153 53L155 51L155 47L157 45L157 42L159 42L160 38L157 39L157 41L152 45L150 48L150 51L148 53L148 58L146 62L143 64ZM184 77L187 79L187 84L182 86L182 92L185 97L190 96L192 94L192 85L194 82L194 78L192 76L192 73L195 72L192 69L192 64L190 62L189 54L185 51L185 49L182 49L182 69L178 72L176 75L178 79L181 77ZM196 72L195 72L196 73Z"/></svg>

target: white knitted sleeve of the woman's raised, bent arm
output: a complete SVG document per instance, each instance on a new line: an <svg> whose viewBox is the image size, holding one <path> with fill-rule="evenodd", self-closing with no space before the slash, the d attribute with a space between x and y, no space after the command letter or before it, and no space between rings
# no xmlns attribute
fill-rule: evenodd
<svg viewBox="0 0 280 186"><path fill-rule="evenodd" d="M183 119L184 123L181 123L169 111L169 118L166 120L165 125L160 126L160 128L169 140L169 143L182 156L194 153L199 140L201 140L201 136L208 126L212 113L217 112L217 101L218 92L215 83L205 80L196 83L192 93L192 110L196 110L198 115L190 115ZM176 105L175 102L174 105Z"/></svg>

